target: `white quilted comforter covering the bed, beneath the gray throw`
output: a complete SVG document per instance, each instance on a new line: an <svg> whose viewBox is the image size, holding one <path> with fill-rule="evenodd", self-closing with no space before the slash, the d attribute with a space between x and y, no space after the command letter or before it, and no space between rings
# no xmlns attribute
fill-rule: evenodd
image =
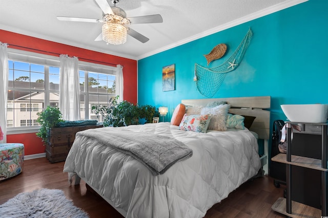
<svg viewBox="0 0 328 218"><path fill-rule="evenodd" d="M170 123L121 128L173 137L193 150L191 158L153 176L129 155L88 137L75 138L64 172L85 178L127 217L203 217L260 168L257 140L248 129L202 134Z"/></svg>

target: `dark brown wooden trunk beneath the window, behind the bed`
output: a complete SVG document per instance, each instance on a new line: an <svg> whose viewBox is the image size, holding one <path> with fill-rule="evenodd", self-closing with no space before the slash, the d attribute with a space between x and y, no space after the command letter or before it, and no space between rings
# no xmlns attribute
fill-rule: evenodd
<svg viewBox="0 0 328 218"><path fill-rule="evenodd" d="M82 130L99 127L103 127L103 125L51 128L50 140L49 143L46 144L47 159L50 163L65 161L74 142L75 134Z"/></svg>

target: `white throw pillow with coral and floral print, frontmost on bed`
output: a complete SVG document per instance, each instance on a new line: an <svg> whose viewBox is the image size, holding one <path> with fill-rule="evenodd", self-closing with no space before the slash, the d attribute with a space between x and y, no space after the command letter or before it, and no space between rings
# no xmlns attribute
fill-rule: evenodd
<svg viewBox="0 0 328 218"><path fill-rule="evenodd" d="M183 116L179 129L193 131L196 133L206 133L211 120L211 115L187 115Z"/></svg>

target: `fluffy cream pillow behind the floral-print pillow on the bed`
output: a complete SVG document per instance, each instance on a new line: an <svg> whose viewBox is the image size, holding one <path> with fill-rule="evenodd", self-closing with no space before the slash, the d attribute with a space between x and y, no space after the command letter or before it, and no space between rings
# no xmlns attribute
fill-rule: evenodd
<svg viewBox="0 0 328 218"><path fill-rule="evenodd" d="M230 104L222 104L215 107L203 107L200 114L212 114L209 129L226 131L227 117Z"/></svg>

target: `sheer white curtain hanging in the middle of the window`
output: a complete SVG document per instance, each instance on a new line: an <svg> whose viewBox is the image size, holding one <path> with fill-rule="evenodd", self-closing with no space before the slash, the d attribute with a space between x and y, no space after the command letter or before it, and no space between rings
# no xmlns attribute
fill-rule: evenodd
<svg viewBox="0 0 328 218"><path fill-rule="evenodd" d="M59 109L64 120L80 119L80 88L77 57L61 54Z"/></svg>

